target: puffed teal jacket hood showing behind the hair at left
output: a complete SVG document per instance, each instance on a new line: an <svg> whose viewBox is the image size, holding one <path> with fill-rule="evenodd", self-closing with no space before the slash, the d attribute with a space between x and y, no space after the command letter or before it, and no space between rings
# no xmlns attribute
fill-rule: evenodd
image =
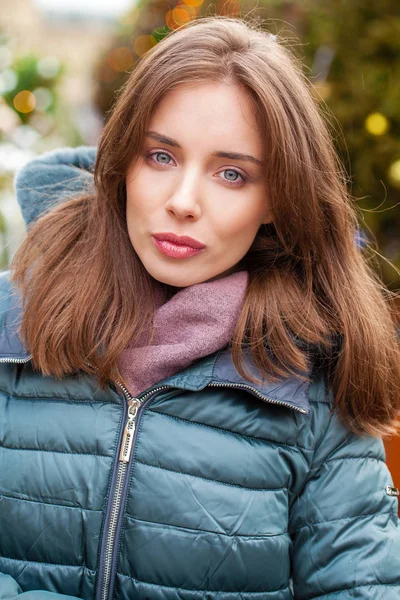
<svg viewBox="0 0 400 600"><path fill-rule="evenodd" d="M91 146L60 148L22 167L14 188L27 225L57 202L92 189L96 152Z"/></svg>

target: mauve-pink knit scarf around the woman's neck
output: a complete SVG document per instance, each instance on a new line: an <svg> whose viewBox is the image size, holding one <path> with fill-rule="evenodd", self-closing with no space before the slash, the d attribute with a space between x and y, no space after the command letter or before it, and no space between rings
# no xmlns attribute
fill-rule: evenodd
<svg viewBox="0 0 400 600"><path fill-rule="evenodd" d="M232 339L247 288L247 271L198 283L177 292L155 313L153 344L128 346L118 367L137 396Z"/></svg>

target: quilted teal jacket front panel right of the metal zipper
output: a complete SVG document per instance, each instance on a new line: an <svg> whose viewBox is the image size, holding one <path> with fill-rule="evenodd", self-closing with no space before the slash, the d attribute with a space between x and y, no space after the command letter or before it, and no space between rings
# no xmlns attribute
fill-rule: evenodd
<svg viewBox="0 0 400 600"><path fill-rule="evenodd" d="M118 563L121 597L140 582L188 593L282 588L290 577L288 488L308 469L311 451L246 435L252 407L232 393L209 394L208 401L204 394L208 412L200 402L198 414L200 394L189 394L190 420L180 410L184 395L166 399L167 413L159 397L138 427ZM212 415L225 411L229 422L232 402L242 433L211 425Z"/></svg>

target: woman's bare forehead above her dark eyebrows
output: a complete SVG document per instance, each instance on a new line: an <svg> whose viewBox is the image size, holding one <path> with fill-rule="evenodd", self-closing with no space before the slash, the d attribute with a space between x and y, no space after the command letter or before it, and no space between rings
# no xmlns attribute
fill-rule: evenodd
<svg viewBox="0 0 400 600"><path fill-rule="evenodd" d="M183 147L196 143L258 155L263 149L254 104L236 84L178 86L159 101L148 129L175 138Z"/></svg>

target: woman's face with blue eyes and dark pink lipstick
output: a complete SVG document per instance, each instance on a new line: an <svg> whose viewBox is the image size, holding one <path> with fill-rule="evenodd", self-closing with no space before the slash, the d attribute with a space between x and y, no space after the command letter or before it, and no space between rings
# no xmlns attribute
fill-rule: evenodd
<svg viewBox="0 0 400 600"><path fill-rule="evenodd" d="M186 287L235 271L260 225L272 220L262 157L243 89L210 82L164 96L126 178L129 237L154 279ZM159 233L190 236L205 247L193 254L159 246Z"/></svg>

